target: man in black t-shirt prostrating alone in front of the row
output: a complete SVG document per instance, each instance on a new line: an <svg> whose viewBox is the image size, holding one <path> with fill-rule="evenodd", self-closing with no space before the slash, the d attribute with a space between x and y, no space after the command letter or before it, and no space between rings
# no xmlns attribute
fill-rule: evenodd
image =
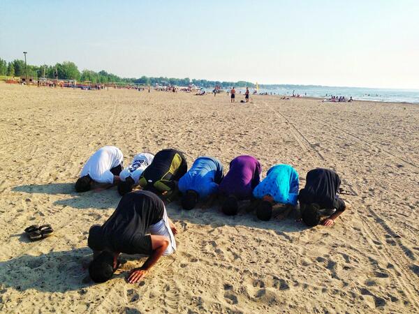
<svg viewBox="0 0 419 314"><path fill-rule="evenodd" d="M149 255L142 267L132 269L128 275L128 283L137 283L161 255L176 251L173 234L177 234L176 227L157 195L142 190L127 193L102 226L90 227L87 245L94 252L89 265L91 279L104 283L112 278L119 267L120 253Z"/></svg>

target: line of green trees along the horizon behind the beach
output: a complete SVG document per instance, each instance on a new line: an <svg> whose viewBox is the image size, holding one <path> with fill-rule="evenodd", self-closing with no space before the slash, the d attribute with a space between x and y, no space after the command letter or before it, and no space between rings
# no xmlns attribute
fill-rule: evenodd
<svg viewBox="0 0 419 314"><path fill-rule="evenodd" d="M211 80L196 80L189 79L189 77L175 78L175 77L147 77L142 76L139 78L134 77L119 77L118 75L108 73L105 70L95 72L92 70L80 70L75 63L70 61L64 61L62 63L56 63L54 66L48 66L46 64L42 66L27 65L27 75L29 77L47 77L47 78L58 78L59 80L77 80L79 82L89 81L93 84L100 83L105 84L108 82L121 82L121 83L135 83L142 85L175 85L175 86L188 86L189 84L195 84L198 87L214 88L219 85L222 89L228 89L230 87L255 87L255 84L251 82L239 81L239 82L221 82ZM26 75L24 61L15 59L10 62L6 62L0 58L0 75L24 77Z"/></svg>

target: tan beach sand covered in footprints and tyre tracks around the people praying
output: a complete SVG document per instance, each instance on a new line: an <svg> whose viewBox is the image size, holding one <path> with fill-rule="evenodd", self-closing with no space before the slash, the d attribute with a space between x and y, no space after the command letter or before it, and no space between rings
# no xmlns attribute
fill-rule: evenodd
<svg viewBox="0 0 419 314"><path fill-rule="evenodd" d="M237 100L244 98L237 96ZM82 91L0 83L2 313L418 313L419 106L133 90ZM258 221L216 207L168 204L179 249L140 284L89 281L87 231L119 202L116 188L78 195L73 183L99 147L124 161L173 147L189 165L216 156L228 169L256 156L263 176L289 163L301 177L336 170L351 210L333 227L290 217ZM24 227L50 223L30 243Z"/></svg>

